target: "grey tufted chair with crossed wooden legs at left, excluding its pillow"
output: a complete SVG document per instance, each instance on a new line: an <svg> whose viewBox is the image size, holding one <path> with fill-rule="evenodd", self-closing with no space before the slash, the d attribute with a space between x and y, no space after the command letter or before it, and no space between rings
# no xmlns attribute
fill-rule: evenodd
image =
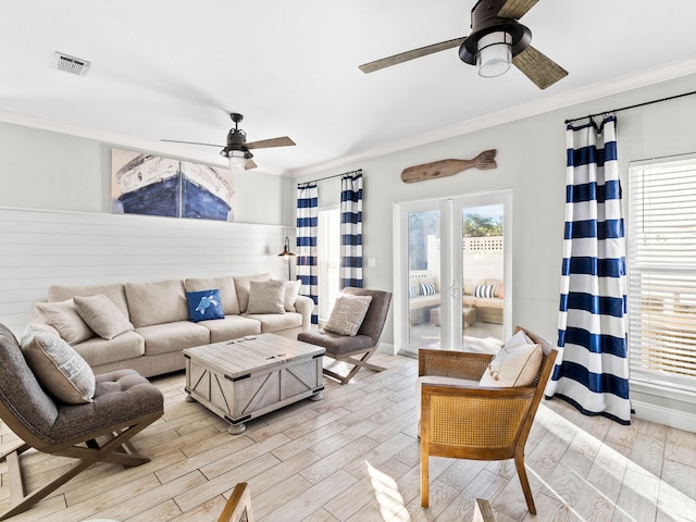
<svg viewBox="0 0 696 522"><path fill-rule="evenodd" d="M11 506L0 520L26 511L95 462L125 467L149 462L129 439L162 413L162 393L134 370L97 375L91 402L54 400L39 384L12 332L0 324L0 418L22 439L0 455L0 461L7 460L11 495ZM79 462L26 494L20 457L30 448Z"/></svg>

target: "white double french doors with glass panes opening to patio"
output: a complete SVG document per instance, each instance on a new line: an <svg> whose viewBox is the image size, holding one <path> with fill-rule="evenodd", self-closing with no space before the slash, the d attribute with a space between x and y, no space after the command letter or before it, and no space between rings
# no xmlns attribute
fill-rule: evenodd
<svg viewBox="0 0 696 522"><path fill-rule="evenodd" d="M510 190L397 204L395 337L495 352L510 335Z"/></svg>

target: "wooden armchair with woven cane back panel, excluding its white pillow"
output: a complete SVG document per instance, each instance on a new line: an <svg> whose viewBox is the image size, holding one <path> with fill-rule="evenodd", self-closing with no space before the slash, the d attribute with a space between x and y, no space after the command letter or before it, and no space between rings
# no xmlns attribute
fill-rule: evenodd
<svg viewBox="0 0 696 522"><path fill-rule="evenodd" d="M493 355L448 350L419 350L419 376L439 375L469 384L423 384L421 390L421 505L427 508L428 458L470 460L514 459L522 492L531 513L536 513L524 469L524 445L557 350L521 326L542 346L539 371L530 386L489 388L477 385Z"/></svg>

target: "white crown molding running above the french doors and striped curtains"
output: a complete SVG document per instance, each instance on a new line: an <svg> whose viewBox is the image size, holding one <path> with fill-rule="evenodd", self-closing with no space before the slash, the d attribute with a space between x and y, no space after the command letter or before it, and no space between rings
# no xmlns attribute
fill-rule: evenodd
<svg viewBox="0 0 696 522"><path fill-rule="evenodd" d="M308 167L289 170L287 171L287 175L291 177L301 177L306 175L314 175L318 173L332 171L334 169L346 165L355 165L356 163L360 163L361 161L365 161L372 158L400 152L413 147L419 147L422 145L432 144L434 141L470 134L475 130L502 125L506 123L514 122L517 120L536 116L538 114L544 114L560 109L568 109L580 103L595 101L641 87L648 87L650 85L659 84L670 79L688 76L689 74L694 73L696 73L696 60L689 60L686 62L680 62L662 67L647 70L638 74L614 78L609 82L595 84L591 87L575 89L570 92L545 98L544 100L539 100L533 103L527 103L505 111L486 114L485 116L469 120L457 125L443 127L434 132L420 134L399 141L394 141L391 144L387 144L383 147L376 147L359 154L338 158L336 160L318 163ZM584 114L569 115L568 117L582 117L583 115Z"/></svg>

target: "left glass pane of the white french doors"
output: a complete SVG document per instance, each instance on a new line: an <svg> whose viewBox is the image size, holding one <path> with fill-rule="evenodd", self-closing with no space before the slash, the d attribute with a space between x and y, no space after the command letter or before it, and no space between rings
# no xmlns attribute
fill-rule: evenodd
<svg viewBox="0 0 696 522"><path fill-rule="evenodd" d="M440 345L440 211L408 213L408 344Z"/></svg>

